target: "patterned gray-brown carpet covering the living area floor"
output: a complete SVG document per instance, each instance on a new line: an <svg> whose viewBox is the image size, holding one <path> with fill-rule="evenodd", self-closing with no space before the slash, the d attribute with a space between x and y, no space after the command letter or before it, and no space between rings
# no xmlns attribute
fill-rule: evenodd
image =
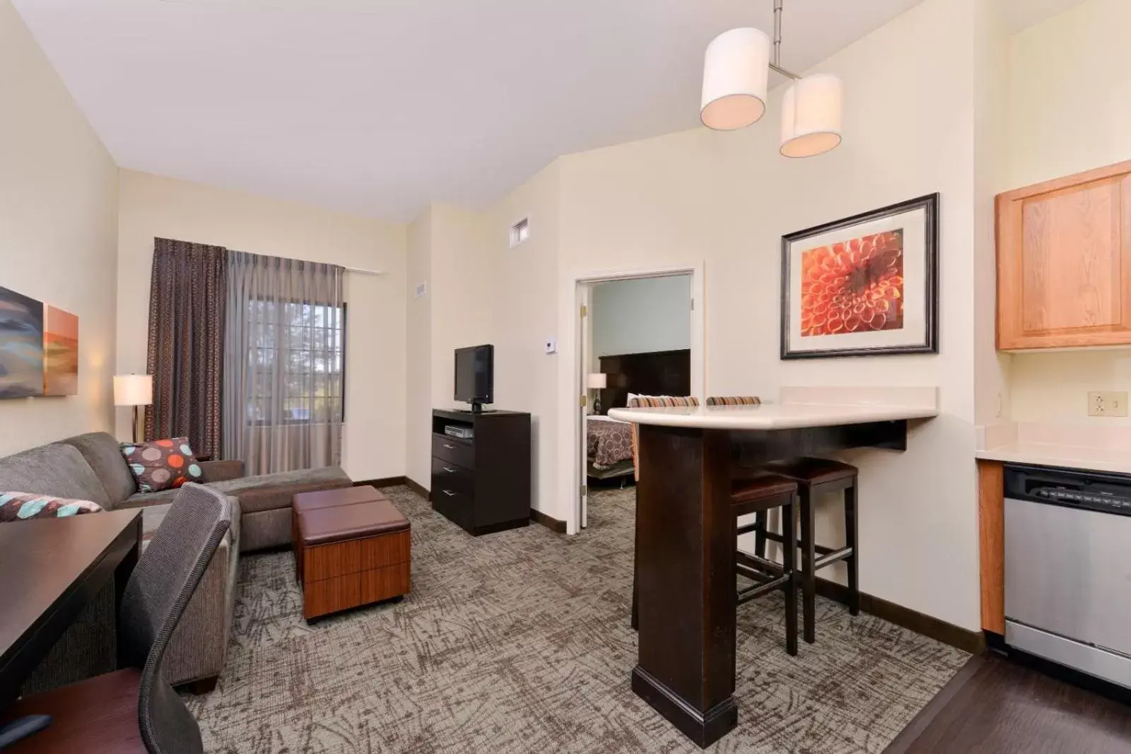
<svg viewBox="0 0 1131 754"><path fill-rule="evenodd" d="M399 604L308 627L291 555L243 558L227 667L189 702L206 751L699 751L629 688L634 488L593 495L570 538L473 538L387 492L413 523ZM828 601L789 658L782 605L741 608L739 728L708 751L880 752L967 658Z"/></svg>

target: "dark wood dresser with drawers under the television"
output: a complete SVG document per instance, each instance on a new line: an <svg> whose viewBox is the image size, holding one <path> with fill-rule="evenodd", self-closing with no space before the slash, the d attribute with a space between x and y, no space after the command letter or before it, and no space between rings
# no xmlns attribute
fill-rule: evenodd
<svg viewBox="0 0 1131 754"><path fill-rule="evenodd" d="M444 434L470 428L475 436ZM530 415L432 411L432 509L476 537L530 522Z"/></svg>

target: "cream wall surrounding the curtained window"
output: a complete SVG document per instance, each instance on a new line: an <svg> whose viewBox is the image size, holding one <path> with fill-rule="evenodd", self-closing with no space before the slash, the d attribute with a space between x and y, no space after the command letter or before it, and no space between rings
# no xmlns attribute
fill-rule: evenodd
<svg viewBox="0 0 1131 754"><path fill-rule="evenodd" d="M122 171L118 371L144 372L155 236L383 270L346 278L346 430L355 479L405 473L406 227L187 181ZM129 431L124 411L118 432Z"/></svg>

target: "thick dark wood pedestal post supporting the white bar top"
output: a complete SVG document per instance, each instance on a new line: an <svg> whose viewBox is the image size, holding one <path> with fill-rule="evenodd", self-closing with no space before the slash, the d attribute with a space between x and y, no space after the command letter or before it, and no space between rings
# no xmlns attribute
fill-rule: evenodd
<svg viewBox="0 0 1131 754"><path fill-rule="evenodd" d="M731 436L640 425L640 458L632 688L706 746L739 719Z"/></svg>

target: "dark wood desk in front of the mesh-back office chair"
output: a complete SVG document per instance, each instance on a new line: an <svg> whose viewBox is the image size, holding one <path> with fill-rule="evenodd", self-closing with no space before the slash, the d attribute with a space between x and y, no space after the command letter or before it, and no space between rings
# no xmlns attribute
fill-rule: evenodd
<svg viewBox="0 0 1131 754"><path fill-rule="evenodd" d="M0 525L0 709L111 579L118 614L140 552L137 509Z"/></svg>

